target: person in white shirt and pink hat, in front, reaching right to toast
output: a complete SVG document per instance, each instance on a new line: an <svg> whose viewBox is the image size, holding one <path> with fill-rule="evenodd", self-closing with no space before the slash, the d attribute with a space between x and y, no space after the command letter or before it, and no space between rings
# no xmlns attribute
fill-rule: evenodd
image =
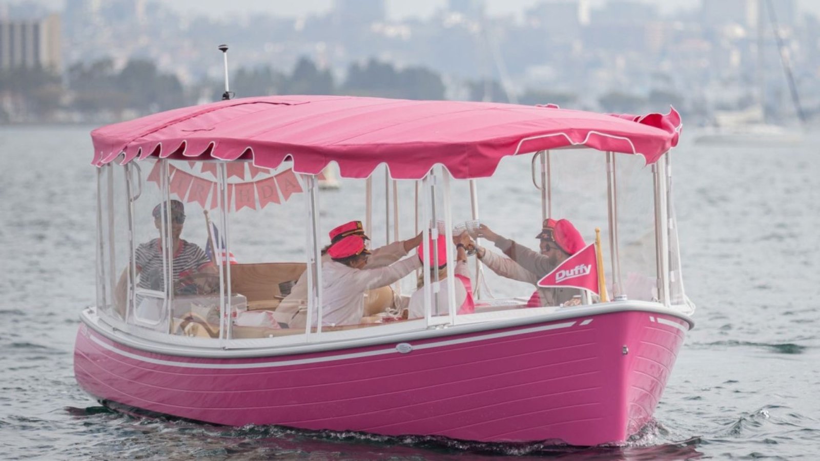
<svg viewBox="0 0 820 461"><path fill-rule="evenodd" d="M321 266L322 326L358 325L364 316L364 293L390 285L421 267L418 258L367 268L371 252L361 235L347 235L330 244L330 261ZM294 319L296 320L296 319ZM318 323L314 317L314 326Z"/></svg>

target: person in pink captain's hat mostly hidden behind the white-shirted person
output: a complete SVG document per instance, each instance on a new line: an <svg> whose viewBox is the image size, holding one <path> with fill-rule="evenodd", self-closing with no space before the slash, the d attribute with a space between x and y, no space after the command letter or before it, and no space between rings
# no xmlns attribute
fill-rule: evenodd
<svg viewBox="0 0 820 461"><path fill-rule="evenodd" d="M334 227L333 230L328 232L330 244L321 250L322 266L324 266L327 262L330 262L330 255L327 254L327 250L330 249L330 246L350 235L358 235L363 240L370 240L370 237L364 233L362 221L348 221L342 225ZM386 244L385 246L377 249L368 250L370 255L367 258L365 268L373 269L376 267L385 267L393 262L399 261L399 259L407 256L408 251L417 247L420 243L421 233L412 239L400 240L391 244ZM290 315L291 322L289 322L289 325L298 326L301 328L304 326L304 315L297 317L296 314L300 310L304 313L304 308L306 308L307 305L306 303L307 275L303 273L302 276L299 276L298 281L296 281L293 287L291 287L290 293L285 296L285 299L282 299L282 302L276 307L276 312Z"/></svg>

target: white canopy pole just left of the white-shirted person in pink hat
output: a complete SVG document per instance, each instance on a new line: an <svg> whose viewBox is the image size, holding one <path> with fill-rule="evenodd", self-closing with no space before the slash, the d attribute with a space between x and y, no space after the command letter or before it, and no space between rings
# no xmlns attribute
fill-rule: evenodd
<svg viewBox="0 0 820 461"><path fill-rule="evenodd" d="M321 248L319 245L319 196L316 176L301 175L305 183L305 207L307 208L307 317L305 332L307 342L321 338ZM312 333L313 317L317 317L316 333Z"/></svg>

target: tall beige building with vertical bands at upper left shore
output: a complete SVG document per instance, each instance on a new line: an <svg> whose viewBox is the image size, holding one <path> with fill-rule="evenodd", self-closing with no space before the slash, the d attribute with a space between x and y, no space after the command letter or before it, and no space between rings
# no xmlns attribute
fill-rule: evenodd
<svg viewBox="0 0 820 461"><path fill-rule="evenodd" d="M0 70L41 67L62 70L60 16L39 20L0 20Z"/></svg>

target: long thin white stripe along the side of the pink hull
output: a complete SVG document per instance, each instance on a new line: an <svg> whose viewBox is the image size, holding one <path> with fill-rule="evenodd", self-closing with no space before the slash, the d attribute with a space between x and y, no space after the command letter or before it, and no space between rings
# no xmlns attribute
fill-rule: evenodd
<svg viewBox="0 0 820 461"><path fill-rule="evenodd" d="M591 322L591 319L585 321L586 323ZM503 338L507 336L514 336L514 335L526 335L528 333L535 333L538 331L549 331L549 330L558 330L562 328L570 328L574 326L576 322L563 322L563 323L555 323L553 325L544 325L544 326L533 326L531 328L524 328L522 330L513 330L513 331L501 331L499 333L490 333L488 335L477 335L471 336L468 338L459 338L457 340L444 340L444 341L436 341L430 342L421 345L412 345L413 350L419 349L432 349L436 347L444 347L449 345L459 345L464 343L471 343L476 341L482 340L494 340L497 338ZM384 354L399 354L399 351L396 350L395 346L391 346L385 349L378 349L378 350L371 350L366 352L355 352L352 354L338 354L338 355L329 355L326 357L315 357L315 358L299 358L296 360L281 360L278 362L258 362L258 363L194 363L194 362L176 362L174 360L165 360L161 358L150 358L145 357L144 355L133 354L127 352L125 350L117 348L115 345L109 345L105 341L99 339L97 335L93 333L89 333L89 339L92 340L94 343L100 345L104 349L108 349L115 354L120 354L127 358L133 358L134 360L139 360L141 362L146 363L153 363L155 365L165 365L167 367L183 367L183 368L207 368L207 369L232 369L238 370L243 368L266 368L266 367L289 367L293 365L305 365L308 363L323 363L323 362L333 362L336 360L346 360L348 358L362 358L362 357L372 357L376 355L384 355Z"/></svg>

